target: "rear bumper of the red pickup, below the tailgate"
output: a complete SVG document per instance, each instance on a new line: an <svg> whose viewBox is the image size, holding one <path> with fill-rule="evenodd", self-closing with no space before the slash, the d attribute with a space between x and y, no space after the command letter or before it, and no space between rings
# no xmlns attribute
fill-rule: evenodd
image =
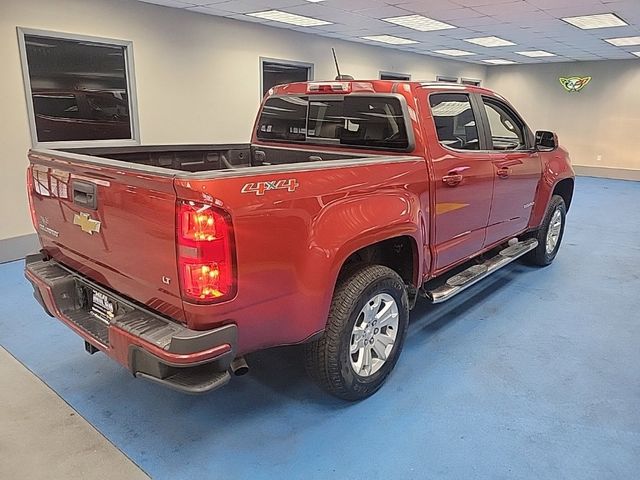
<svg viewBox="0 0 640 480"><path fill-rule="evenodd" d="M91 352L101 350L146 378L185 393L205 393L226 384L235 357L237 328L190 330L95 284L42 255L25 259L25 276L44 310L80 335ZM115 306L110 319L90 312L91 295Z"/></svg>

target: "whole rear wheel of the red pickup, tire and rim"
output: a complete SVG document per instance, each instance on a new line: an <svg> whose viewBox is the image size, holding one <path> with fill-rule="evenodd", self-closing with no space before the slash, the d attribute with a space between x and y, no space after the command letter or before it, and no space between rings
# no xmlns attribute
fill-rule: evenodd
<svg viewBox="0 0 640 480"><path fill-rule="evenodd" d="M402 350L409 321L404 281L390 268L363 267L342 279L322 337L306 347L310 376L345 400L375 393Z"/></svg>

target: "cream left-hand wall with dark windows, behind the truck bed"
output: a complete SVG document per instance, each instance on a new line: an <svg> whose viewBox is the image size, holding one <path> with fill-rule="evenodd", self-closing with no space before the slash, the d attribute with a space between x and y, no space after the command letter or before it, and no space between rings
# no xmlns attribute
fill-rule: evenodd
<svg viewBox="0 0 640 480"><path fill-rule="evenodd" d="M144 144L246 142L260 98L259 57L315 64L316 79L380 70L484 79L486 68L135 1L0 0L0 240L33 231L25 193L30 147L16 27L133 41Z"/></svg>

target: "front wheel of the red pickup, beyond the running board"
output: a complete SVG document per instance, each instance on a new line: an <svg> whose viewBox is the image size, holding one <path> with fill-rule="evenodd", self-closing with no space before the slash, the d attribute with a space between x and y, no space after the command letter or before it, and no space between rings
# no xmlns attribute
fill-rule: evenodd
<svg viewBox="0 0 640 480"><path fill-rule="evenodd" d="M563 198L554 195L551 197L542 225L535 234L538 246L524 257L526 262L543 267L553 262L562 242L566 217L567 207Z"/></svg>

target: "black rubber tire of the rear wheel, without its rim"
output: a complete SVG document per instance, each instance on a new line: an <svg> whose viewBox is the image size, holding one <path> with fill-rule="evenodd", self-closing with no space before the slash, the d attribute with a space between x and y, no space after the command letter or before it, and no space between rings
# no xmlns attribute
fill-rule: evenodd
<svg viewBox="0 0 640 480"><path fill-rule="evenodd" d="M379 370L360 376L351 363L351 335L361 310L379 294L390 295L398 308L395 343ZM306 345L305 366L309 376L324 390L344 400L362 400L373 395L400 356L408 323L407 288L396 272L381 265L351 271L336 286L324 334Z"/></svg>

